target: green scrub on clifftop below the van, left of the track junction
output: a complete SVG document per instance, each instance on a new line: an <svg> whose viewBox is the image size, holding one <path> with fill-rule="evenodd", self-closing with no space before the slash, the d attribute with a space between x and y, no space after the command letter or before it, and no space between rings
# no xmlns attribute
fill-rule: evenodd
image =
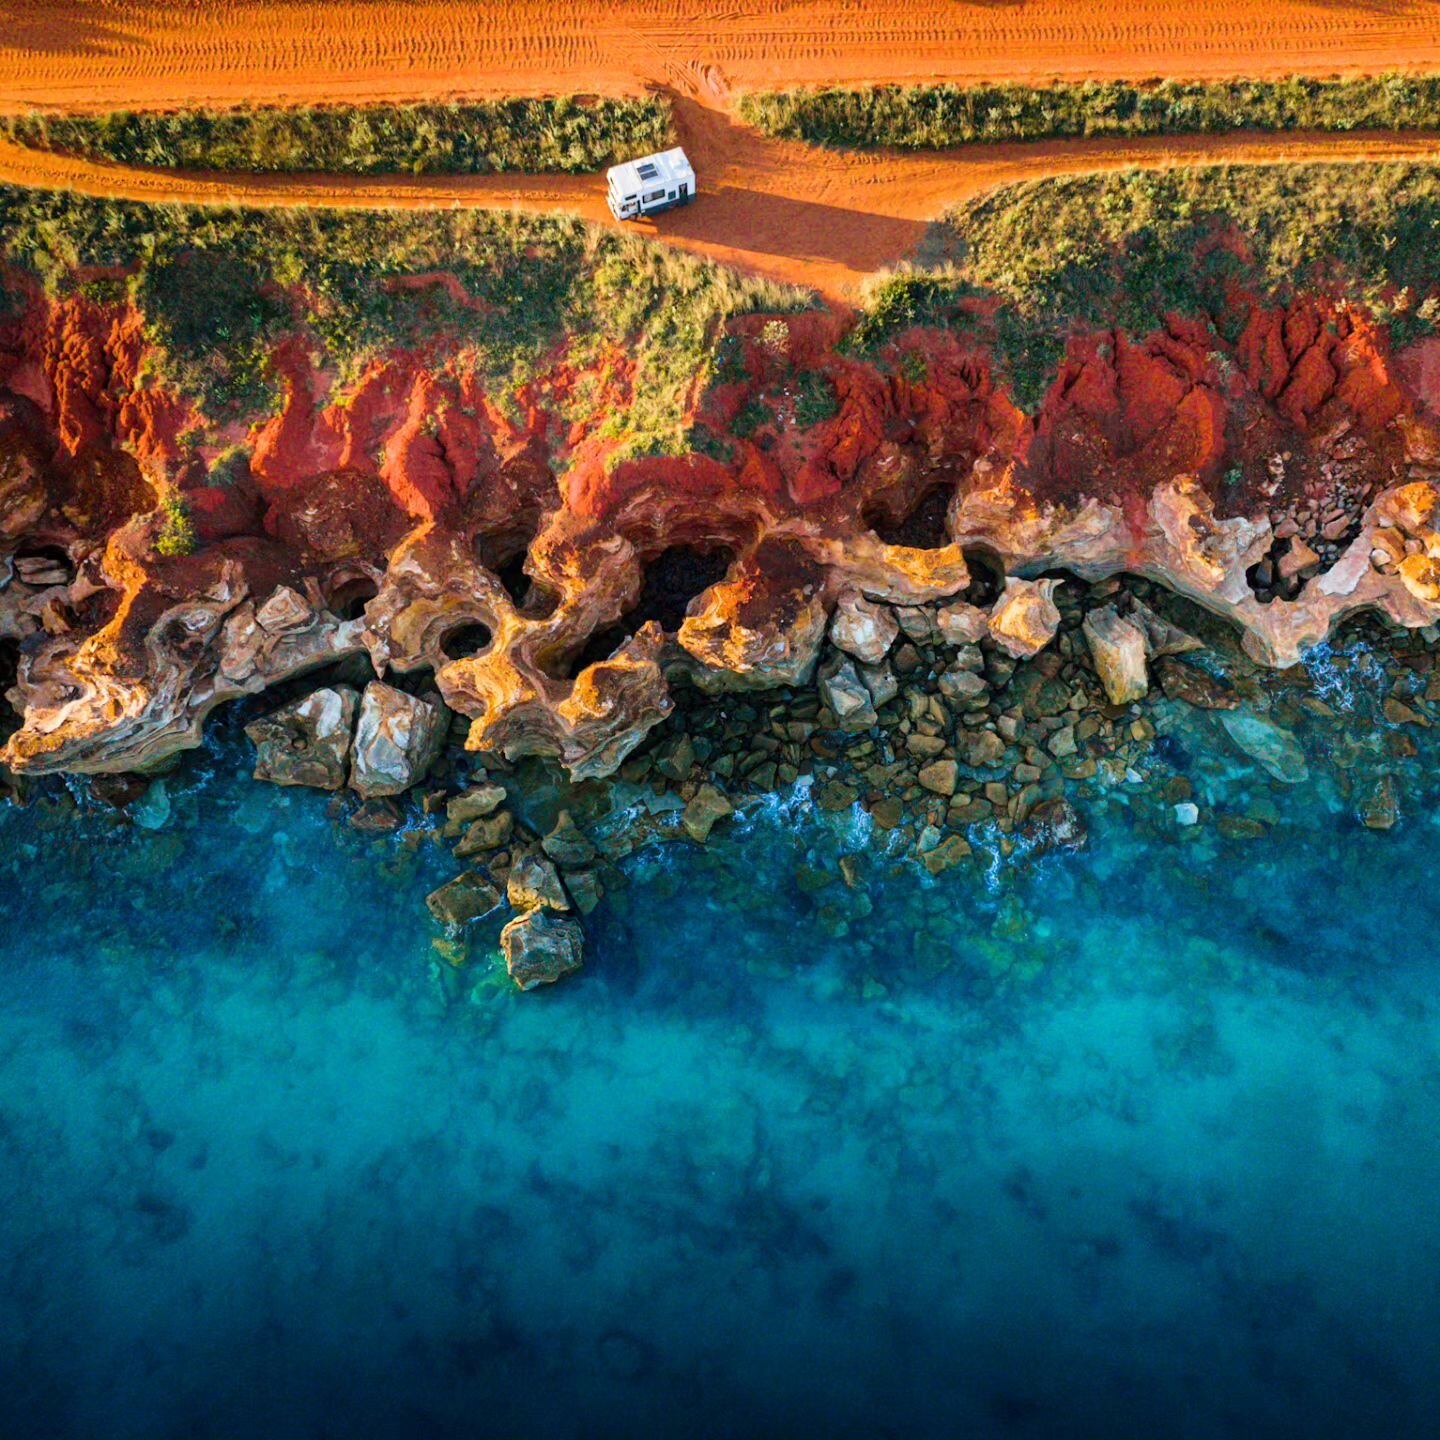
<svg viewBox="0 0 1440 1440"><path fill-rule="evenodd" d="M157 374L215 423L278 403L275 346L301 336L344 382L396 347L464 354L500 403L564 348L635 361L621 454L684 452L724 323L808 292L566 216L492 210L148 206L0 187L0 261L52 292L120 269ZM111 282L114 284L114 282ZM122 297L124 291L121 291Z"/></svg>

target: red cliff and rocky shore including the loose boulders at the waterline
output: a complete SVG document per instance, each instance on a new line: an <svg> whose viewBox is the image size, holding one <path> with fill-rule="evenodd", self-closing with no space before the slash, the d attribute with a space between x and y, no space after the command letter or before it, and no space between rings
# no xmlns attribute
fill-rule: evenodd
<svg viewBox="0 0 1440 1440"><path fill-rule="evenodd" d="M1384 828L1440 698L1431 341L1395 357L1316 298L1246 314L1228 346L1178 317L1077 334L1035 415L950 331L861 357L840 317L740 317L697 448L619 459L603 426L559 441L543 387L517 420L458 356L340 386L298 350L284 408L212 454L128 304L36 300L0 333L0 775L138 792L216 706L275 690L256 775L377 832L418 793L467 867L432 897L446 953L504 903L528 986L579 965L616 860L778 789L861 806L940 874L978 831L1081 842L1076 802L1140 783L1156 703L1296 783L1280 677L1374 612L1413 668L1352 768ZM536 766L563 814L527 798ZM1179 775L1164 806L1267 824Z"/></svg>

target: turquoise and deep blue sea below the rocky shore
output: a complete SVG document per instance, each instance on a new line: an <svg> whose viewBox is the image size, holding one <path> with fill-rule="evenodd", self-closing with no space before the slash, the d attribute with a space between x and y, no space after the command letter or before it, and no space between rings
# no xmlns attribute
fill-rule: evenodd
<svg viewBox="0 0 1440 1440"><path fill-rule="evenodd" d="M802 792L521 996L232 744L0 812L0 1434L1434 1433L1428 782L864 899Z"/></svg>

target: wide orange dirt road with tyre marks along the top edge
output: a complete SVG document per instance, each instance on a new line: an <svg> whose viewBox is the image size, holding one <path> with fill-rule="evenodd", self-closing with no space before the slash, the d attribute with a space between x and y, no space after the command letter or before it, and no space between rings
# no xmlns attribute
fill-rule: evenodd
<svg viewBox="0 0 1440 1440"><path fill-rule="evenodd" d="M1440 0L0 0L0 105L1440 66Z"/></svg>

